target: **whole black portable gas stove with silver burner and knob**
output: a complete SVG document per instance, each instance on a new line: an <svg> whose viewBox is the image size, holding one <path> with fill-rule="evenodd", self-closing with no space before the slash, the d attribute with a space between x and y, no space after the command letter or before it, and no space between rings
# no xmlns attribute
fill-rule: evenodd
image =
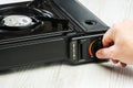
<svg viewBox="0 0 133 88"><path fill-rule="evenodd" d="M0 69L29 63L100 63L95 52L109 29L76 0L0 6Z"/></svg>

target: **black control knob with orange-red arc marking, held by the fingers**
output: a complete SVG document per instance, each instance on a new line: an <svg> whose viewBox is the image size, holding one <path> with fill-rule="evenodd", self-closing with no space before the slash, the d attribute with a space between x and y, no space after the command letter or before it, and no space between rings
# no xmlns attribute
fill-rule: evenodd
<svg viewBox="0 0 133 88"><path fill-rule="evenodd" d="M95 56L96 51L102 48L102 47L103 47L103 45L102 45L101 38L96 38L96 40L91 41L91 43L89 45L89 55L91 57L96 57Z"/></svg>

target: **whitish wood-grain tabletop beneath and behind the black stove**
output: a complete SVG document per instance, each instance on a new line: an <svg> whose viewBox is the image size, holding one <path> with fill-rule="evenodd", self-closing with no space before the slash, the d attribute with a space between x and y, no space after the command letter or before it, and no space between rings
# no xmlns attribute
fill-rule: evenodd
<svg viewBox="0 0 133 88"><path fill-rule="evenodd" d="M19 0L0 0L0 4ZM20 0L22 1L22 0ZM79 0L108 25L133 20L133 0ZM7 61L8 62L8 61ZM0 88L133 88L133 66L65 64L29 65L0 72Z"/></svg>

